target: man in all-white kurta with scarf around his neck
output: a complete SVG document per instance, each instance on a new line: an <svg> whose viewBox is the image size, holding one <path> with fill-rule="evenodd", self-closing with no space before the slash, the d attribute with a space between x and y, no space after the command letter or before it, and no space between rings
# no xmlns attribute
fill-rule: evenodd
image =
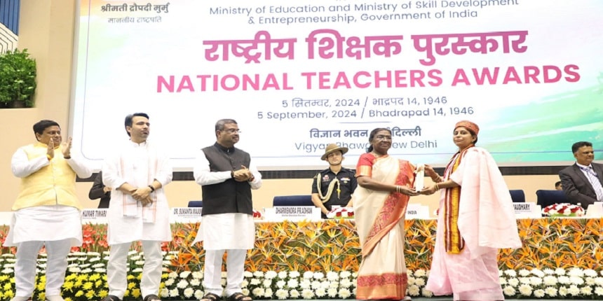
<svg viewBox="0 0 603 301"><path fill-rule="evenodd" d="M171 241L169 206L163 187L172 181L169 157L147 141L149 116L135 113L126 117L130 141L104 161L102 177L111 191L107 239L111 255L107 265L109 295L121 300L128 289L126 266L133 241L142 241L144 267L140 290L144 301L158 300L163 255L161 242Z"/></svg>

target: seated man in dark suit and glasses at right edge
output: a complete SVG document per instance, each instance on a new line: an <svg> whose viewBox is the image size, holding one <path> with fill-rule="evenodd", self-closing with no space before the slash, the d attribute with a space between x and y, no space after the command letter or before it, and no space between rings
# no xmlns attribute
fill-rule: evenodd
<svg viewBox="0 0 603 301"><path fill-rule="evenodd" d="M561 185L567 200L572 204L588 205L603 201L603 165L592 162L595 151L587 141L571 146L576 163L559 172Z"/></svg>

